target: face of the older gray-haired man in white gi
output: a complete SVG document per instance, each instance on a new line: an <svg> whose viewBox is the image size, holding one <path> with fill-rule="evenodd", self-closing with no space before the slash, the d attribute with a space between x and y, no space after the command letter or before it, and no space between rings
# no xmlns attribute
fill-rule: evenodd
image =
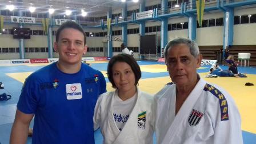
<svg viewBox="0 0 256 144"><path fill-rule="evenodd" d="M174 46L167 51L166 65L171 80L177 86L195 85L197 68L200 67L202 55L195 58L185 44Z"/></svg>

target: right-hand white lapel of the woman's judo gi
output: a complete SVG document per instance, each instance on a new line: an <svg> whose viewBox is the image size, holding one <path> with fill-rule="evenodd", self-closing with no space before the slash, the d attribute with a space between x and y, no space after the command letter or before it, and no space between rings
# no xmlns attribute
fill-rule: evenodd
<svg viewBox="0 0 256 144"><path fill-rule="evenodd" d="M134 133L134 128L137 128L137 122L138 122L138 101L139 101L139 93L140 91L137 89L137 101L135 103L135 106L133 107L133 110L131 111L130 117L128 121L125 123L125 126L123 127L122 131L119 132L119 135L117 139L115 139L114 143L124 143L125 139L127 137L129 138L129 134Z"/></svg>

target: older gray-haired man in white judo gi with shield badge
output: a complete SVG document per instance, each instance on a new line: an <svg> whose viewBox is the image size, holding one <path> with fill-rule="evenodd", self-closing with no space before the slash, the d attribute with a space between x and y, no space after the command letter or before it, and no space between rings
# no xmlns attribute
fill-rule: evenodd
<svg viewBox="0 0 256 144"><path fill-rule="evenodd" d="M175 38L164 50L172 83L155 94L157 143L243 143L233 98L197 73L202 55L194 41Z"/></svg>

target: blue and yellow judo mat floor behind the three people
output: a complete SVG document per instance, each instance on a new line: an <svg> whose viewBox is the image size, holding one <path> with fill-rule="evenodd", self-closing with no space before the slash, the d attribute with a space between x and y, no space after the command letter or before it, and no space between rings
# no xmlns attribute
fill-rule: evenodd
<svg viewBox="0 0 256 144"><path fill-rule="evenodd" d="M138 61L142 71L142 78L139 81L139 88L150 94L155 94L167 83L170 82L164 63L153 61ZM11 126L13 125L16 105L21 94L21 88L25 78L40 69L45 64L30 64L18 66L0 66L0 82L3 82L5 89L0 89L0 94L12 95L9 101L0 101L0 144L9 143ZM107 91L113 91L107 79L107 62L97 62L91 65L94 69L102 71L107 81ZM223 70L227 66L221 66ZM247 78L218 77L205 78L210 66L202 66L198 73L208 82L216 83L232 95L237 103L242 117L243 142L245 144L256 143L256 68L238 67L240 73L246 73ZM245 86L246 82L254 83L254 86ZM30 127L33 127L33 121ZM27 143L31 143L28 138ZM95 131L95 143L102 143L102 135L99 130Z"/></svg>

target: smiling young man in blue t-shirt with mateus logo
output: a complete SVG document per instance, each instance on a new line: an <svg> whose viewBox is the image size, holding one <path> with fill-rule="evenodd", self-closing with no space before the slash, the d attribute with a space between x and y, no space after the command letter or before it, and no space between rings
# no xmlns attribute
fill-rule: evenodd
<svg viewBox="0 0 256 144"><path fill-rule="evenodd" d="M33 116L32 143L94 143L93 114L105 93L103 74L82 63L86 35L75 22L57 30L59 61L35 71L25 81L10 143L26 143Z"/></svg>

